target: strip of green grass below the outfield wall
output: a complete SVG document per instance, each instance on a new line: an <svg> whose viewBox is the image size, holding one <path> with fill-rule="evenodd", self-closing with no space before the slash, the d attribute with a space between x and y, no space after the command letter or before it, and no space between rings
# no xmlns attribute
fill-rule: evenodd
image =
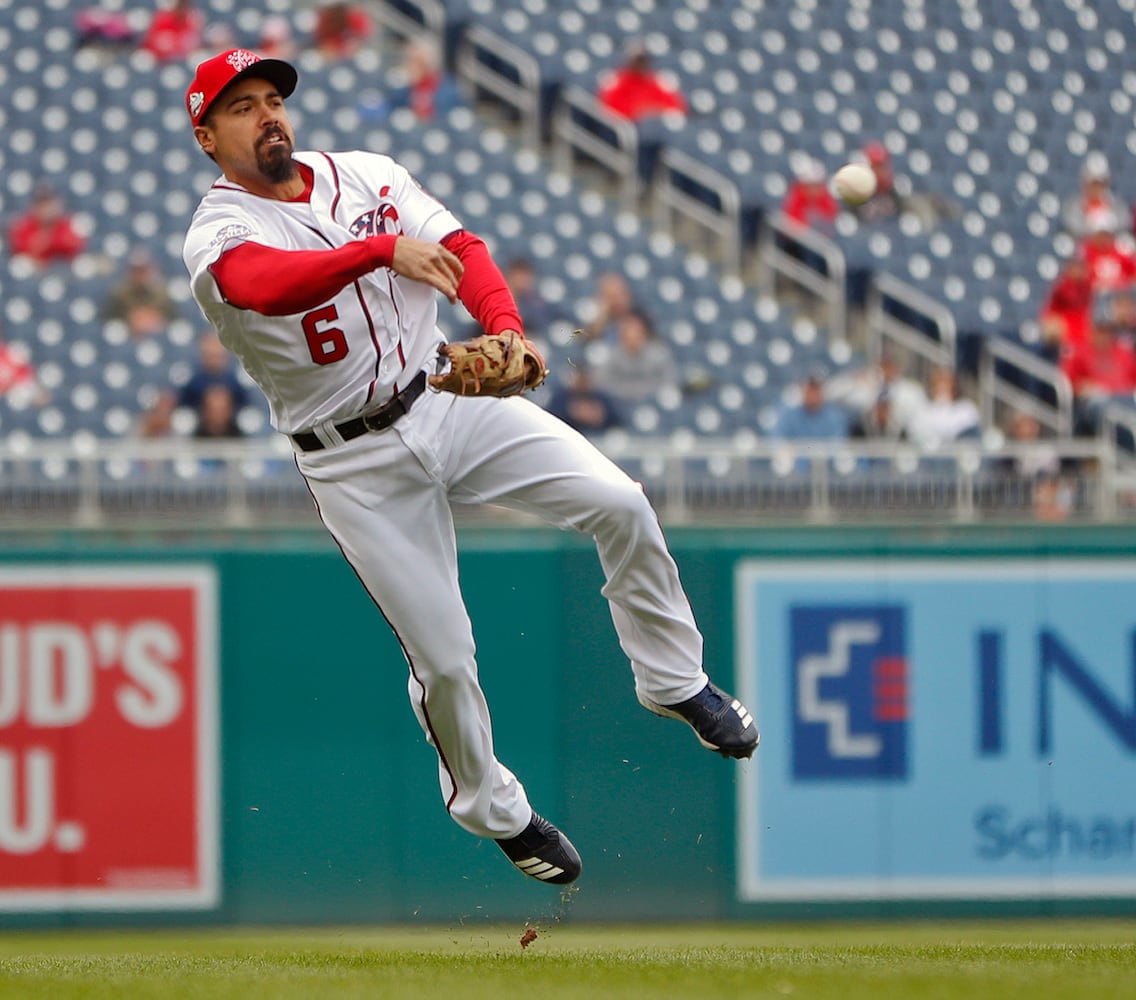
<svg viewBox="0 0 1136 1000"><path fill-rule="evenodd" d="M0 998L1136 998L1136 922L0 936Z"/></svg>

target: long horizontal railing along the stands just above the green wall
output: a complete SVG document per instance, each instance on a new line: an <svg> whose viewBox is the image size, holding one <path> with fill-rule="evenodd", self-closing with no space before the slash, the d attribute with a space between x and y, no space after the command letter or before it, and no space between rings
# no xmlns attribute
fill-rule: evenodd
<svg viewBox="0 0 1136 1000"><path fill-rule="evenodd" d="M618 432L598 444L643 483L660 517L674 524L1136 517L1136 482L1127 467L1118 469L1104 438L967 441L932 452L905 443L661 440ZM298 525L318 520L283 438L0 444L5 531Z"/></svg>

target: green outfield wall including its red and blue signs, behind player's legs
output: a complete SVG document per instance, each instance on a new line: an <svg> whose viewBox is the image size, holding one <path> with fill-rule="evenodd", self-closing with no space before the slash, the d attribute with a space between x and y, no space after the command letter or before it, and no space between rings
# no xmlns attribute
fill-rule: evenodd
<svg viewBox="0 0 1136 1000"><path fill-rule="evenodd" d="M1136 914L1130 531L670 541L760 760L638 707L588 543L461 532L499 756L584 858L561 893L446 817L321 534L0 540L0 923Z"/></svg>

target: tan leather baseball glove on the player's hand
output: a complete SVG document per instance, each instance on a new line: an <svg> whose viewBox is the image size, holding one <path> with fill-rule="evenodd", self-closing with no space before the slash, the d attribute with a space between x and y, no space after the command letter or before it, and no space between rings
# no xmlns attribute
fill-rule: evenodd
<svg viewBox="0 0 1136 1000"><path fill-rule="evenodd" d="M513 330L442 344L437 355L450 370L431 375L429 384L457 395L517 395L549 374L541 352Z"/></svg>

